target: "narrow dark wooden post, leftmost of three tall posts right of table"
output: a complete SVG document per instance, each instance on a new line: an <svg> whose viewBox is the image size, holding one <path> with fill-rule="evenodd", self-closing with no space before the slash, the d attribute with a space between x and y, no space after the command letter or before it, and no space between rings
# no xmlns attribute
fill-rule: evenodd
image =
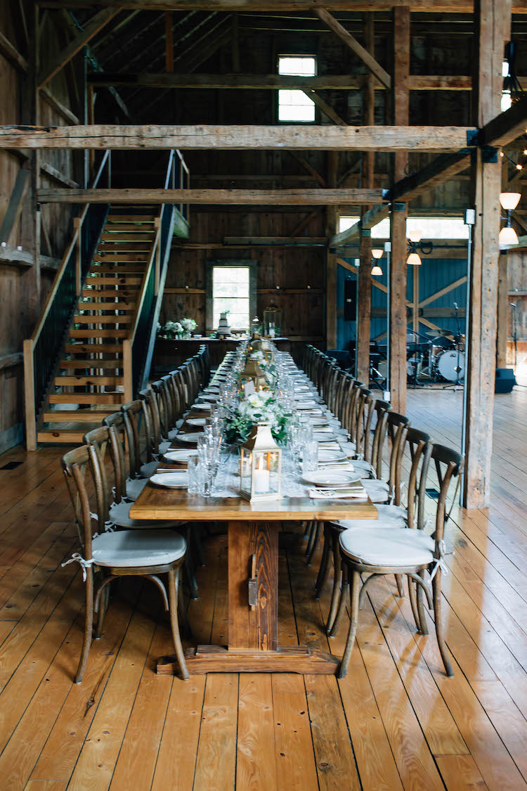
<svg viewBox="0 0 527 791"><path fill-rule="evenodd" d="M375 56L374 15L366 14L365 40L367 51ZM363 90L363 124L372 127L375 123L375 80L368 72ZM362 186L371 189L374 184L375 153L363 154ZM365 214L371 206L362 206ZM357 378L366 385L370 380L370 336L371 336L371 231L363 229L360 236L359 288L357 293L356 372Z"/></svg>

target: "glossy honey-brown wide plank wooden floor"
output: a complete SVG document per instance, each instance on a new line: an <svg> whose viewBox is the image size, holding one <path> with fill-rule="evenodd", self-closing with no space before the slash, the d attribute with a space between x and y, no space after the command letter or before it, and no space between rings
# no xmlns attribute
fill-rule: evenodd
<svg viewBox="0 0 527 791"><path fill-rule="evenodd" d="M461 392L411 391L412 425L459 445ZM60 449L0 457L0 789L312 791L523 789L527 785L527 388L495 405L492 504L454 509L443 577L447 679L433 631L416 635L393 579L372 586L347 679L217 674L158 677L171 647L156 592L130 585L111 604L85 680L82 583L61 567L75 537ZM431 509L433 501L430 500ZM305 542L280 554L280 642L314 642ZM224 536L205 544L199 642L226 638ZM430 623L430 626L433 626ZM344 631L329 641L340 655Z"/></svg>

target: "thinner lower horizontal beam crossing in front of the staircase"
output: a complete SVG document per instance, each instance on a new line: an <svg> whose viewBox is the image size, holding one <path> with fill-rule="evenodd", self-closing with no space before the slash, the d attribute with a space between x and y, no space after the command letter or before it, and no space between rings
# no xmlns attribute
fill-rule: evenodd
<svg viewBox="0 0 527 791"><path fill-rule="evenodd" d="M41 203L190 203L236 206L347 206L382 202L376 189L41 189Z"/></svg>

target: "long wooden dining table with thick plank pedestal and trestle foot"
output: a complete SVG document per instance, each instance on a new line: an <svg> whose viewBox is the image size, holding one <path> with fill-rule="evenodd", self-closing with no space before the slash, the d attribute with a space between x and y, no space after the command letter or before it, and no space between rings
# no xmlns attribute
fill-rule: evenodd
<svg viewBox="0 0 527 791"><path fill-rule="evenodd" d="M329 653L278 645L278 534L287 521L377 519L371 501L284 497L251 505L243 498L204 498L149 483L130 517L228 523L228 645L187 649L190 673L337 672L340 662ZM255 598L249 592L251 577ZM157 672L173 673L176 667L175 657L161 657Z"/></svg>

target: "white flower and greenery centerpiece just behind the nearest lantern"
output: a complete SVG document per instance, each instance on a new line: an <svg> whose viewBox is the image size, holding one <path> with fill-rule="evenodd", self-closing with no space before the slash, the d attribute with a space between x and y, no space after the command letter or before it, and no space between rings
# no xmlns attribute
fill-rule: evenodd
<svg viewBox="0 0 527 791"><path fill-rule="evenodd" d="M225 439L229 445L240 445L250 437L256 423L269 423L274 439L284 445L290 419L291 414L284 411L273 393L252 393L242 397L235 410L228 415Z"/></svg>

